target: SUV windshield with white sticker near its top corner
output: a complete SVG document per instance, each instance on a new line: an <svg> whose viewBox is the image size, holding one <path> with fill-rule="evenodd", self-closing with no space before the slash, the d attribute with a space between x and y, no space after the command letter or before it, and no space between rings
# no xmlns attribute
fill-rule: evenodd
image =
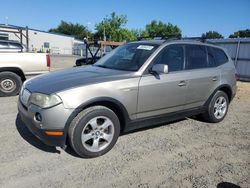
<svg viewBox="0 0 250 188"><path fill-rule="evenodd" d="M137 71L158 45L130 43L122 45L101 58L94 66L124 71Z"/></svg>

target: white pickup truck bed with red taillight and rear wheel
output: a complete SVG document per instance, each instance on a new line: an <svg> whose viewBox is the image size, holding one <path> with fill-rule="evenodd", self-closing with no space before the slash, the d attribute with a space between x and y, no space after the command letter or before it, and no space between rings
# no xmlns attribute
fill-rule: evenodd
<svg viewBox="0 0 250 188"><path fill-rule="evenodd" d="M49 71L48 54L0 53L0 96L17 95L26 79Z"/></svg>

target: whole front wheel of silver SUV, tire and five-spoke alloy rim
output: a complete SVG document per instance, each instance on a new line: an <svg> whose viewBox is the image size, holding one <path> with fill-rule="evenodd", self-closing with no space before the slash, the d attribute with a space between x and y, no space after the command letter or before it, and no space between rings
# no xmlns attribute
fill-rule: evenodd
<svg viewBox="0 0 250 188"><path fill-rule="evenodd" d="M79 156L92 158L107 153L119 134L120 122L116 114L104 106L93 106L73 119L69 127L69 142Z"/></svg>

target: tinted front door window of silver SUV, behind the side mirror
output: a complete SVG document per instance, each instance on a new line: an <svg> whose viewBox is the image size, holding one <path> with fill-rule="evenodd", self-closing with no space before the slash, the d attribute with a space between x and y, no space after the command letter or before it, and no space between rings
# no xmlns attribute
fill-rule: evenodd
<svg viewBox="0 0 250 188"><path fill-rule="evenodd" d="M154 60L154 64L168 65L168 71L183 70L184 50L181 45L171 45L163 49Z"/></svg>

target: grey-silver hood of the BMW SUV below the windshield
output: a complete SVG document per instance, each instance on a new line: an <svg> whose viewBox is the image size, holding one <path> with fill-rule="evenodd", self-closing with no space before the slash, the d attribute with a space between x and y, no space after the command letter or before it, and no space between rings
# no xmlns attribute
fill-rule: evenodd
<svg viewBox="0 0 250 188"><path fill-rule="evenodd" d="M134 74L97 66L75 67L37 76L25 83L30 92L52 94L84 85L126 79Z"/></svg>

